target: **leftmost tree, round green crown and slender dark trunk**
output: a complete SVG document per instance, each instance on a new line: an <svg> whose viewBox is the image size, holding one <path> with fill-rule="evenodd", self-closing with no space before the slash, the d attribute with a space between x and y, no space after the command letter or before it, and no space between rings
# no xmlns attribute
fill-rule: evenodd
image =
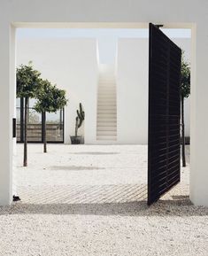
<svg viewBox="0 0 208 256"><path fill-rule="evenodd" d="M17 68L17 97L24 98L24 159L23 166L27 167L27 108L28 99L31 97L37 97L38 90L41 89L42 80L40 78L41 73L35 70L32 66L32 62L28 65L20 65Z"/></svg>

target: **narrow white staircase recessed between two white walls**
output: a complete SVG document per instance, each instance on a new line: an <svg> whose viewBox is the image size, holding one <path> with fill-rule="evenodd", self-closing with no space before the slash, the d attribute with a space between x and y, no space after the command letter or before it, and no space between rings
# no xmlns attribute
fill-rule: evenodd
<svg viewBox="0 0 208 256"><path fill-rule="evenodd" d="M116 80L114 66L99 65L96 140L113 144L117 140Z"/></svg>

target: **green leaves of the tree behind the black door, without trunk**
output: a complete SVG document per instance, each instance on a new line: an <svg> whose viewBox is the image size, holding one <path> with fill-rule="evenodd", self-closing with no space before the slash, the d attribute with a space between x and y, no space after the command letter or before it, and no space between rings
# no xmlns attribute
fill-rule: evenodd
<svg viewBox="0 0 208 256"><path fill-rule="evenodd" d="M189 97L190 95L190 65L184 58L184 51L182 52L181 60L181 97Z"/></svg>

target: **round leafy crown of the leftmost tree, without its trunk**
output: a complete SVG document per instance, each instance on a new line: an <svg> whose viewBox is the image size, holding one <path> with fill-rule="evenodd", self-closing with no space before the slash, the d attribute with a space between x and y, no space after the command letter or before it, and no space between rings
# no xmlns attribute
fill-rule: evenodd
<svg viewBox="0 0 208 256"><path fill-rule="evenodd" d="M36 97L41 88L41 73L35 70L32 62L17 68L17 97Z"/></svg>

